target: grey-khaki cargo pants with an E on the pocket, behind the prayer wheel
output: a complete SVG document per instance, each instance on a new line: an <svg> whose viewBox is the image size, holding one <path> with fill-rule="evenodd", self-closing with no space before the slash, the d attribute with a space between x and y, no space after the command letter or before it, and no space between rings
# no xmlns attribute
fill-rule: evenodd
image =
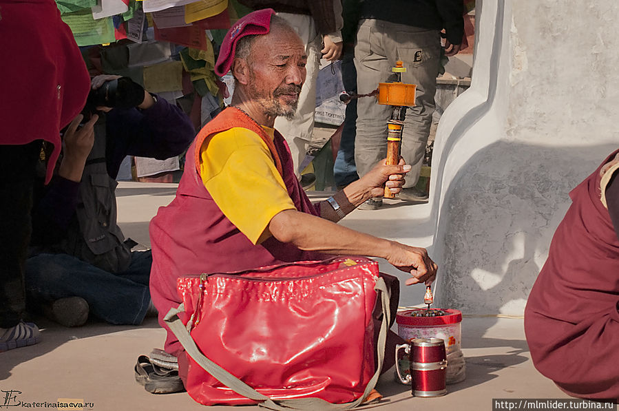
<svg viewBox="0 0 619 411"><path fill-rule="evenodd" d="M378 83L391 81L391 67L398 60L403 61L407 69L402 73L403 83L417 85L415 107L406 110L401 143L401 156L412 165L412 170L406 175L405 188L417 184L426 153L440 56L438 30L375 19L364 19L359 23L355 46L357 92L370 93ZM387 155L387 120L391 112L391 106L379 105L376 98L359 98L355 163L360 177Z"/></svg>

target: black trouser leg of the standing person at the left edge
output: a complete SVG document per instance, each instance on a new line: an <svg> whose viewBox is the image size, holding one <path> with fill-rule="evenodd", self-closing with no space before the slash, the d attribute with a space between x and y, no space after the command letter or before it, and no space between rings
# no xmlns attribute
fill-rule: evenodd
<svg viewBox="0 0 619 411"><path fill-rule="evenodd" d="M0 328L17 325L25 310L23 275L40 151L41 140L0 145Z"/></svg>

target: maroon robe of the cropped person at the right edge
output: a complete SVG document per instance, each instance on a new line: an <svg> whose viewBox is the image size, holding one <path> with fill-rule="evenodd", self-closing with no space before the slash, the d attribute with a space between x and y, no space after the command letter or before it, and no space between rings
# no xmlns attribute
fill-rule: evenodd
<svg viewBox="0 0 619 411"><path fill-rule="evenodd" d="M561 390L617 401L619 240L600 201L601 167L569 193L527 301L525 333L535 367Z"/></svg>

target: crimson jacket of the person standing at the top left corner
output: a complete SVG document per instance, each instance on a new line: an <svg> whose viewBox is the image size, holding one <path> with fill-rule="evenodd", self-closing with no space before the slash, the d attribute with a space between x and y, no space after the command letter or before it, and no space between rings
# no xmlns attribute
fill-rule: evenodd
<svg viewBox="0 0 619 411"><path fill-rule="evenodd" d="M46 182L61 150L60 130L84 107L90 77L54 0L0 0L0 144L54 145Z"/></svg>

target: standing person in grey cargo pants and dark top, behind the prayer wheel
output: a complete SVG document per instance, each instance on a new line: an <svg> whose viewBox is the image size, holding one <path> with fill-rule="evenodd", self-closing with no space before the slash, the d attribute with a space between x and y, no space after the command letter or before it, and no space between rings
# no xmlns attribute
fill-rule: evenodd
<svg viewBox="0 0 619 411"><path fill-rule="evenodd" d="M360 0L361 21L357 30L355 67L357 92L367 94L378 83L392 81L391 67L403 61L403 83L417 85L415 107L406 111L401 156L412 170L399 198L428 200L428 194L415 188L432 125L434 93L441 59L441 30L445 30L445 56L460 50L464 34L462 0ZM355 163L363 177L387 153L387 120L392 108L379 105L374 98L359 98L357 103ZM370 199L359 209L377 209L381 199Z"/></svg>

